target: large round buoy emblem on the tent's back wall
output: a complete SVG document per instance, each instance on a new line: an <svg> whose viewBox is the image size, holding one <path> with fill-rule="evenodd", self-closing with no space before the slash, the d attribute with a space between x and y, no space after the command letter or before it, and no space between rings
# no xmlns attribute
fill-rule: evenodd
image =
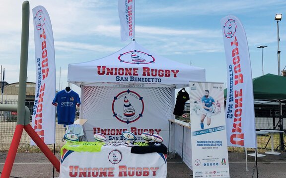
<svg viewBox="0 0 286 178"><path fill-rule="evenodd" d="M143 116L143 97L129 89L122 91L114 96L112 111L113 116L121 122L135 122Z"/></svg>

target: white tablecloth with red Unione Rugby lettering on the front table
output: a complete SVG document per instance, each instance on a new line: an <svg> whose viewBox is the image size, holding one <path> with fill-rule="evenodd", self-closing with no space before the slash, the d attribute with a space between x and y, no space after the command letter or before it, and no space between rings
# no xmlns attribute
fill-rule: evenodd
<svg viewBox="0 0 286 178"><path fill-rule="evenodd" d="M65 150L60 178L166 178L166 155L131 153L127 146L102 146L100 152Z"/></svg>

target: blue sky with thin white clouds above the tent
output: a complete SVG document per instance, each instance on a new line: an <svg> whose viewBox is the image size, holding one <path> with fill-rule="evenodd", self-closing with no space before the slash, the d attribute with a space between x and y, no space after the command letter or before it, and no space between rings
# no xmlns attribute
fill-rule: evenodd
<svg viewBox="0 0 286 178"><path fill-rule="evenodd" d="M22 0L0 6L0 65L5 81L18 82ZM112 54L121 42L117 0L30 0L28 82L35 82L32 8L49 12L55 41L56 88L67 86L68 65ZM208 82L226 82L226 62L220 19L235 15L248 39L253 78L278 74L276 13L284 13L285 0L136 0L135 40L151 52L182 63L206 68ZM286 14L279 22L281 70L286 66ZM79 90L76 86L71 86ZM78 89L77 89L78 88Z"/></svg>

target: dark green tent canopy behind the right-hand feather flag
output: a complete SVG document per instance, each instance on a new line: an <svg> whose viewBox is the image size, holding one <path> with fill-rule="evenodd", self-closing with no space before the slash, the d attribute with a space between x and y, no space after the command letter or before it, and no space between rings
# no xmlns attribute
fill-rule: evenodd
<svg viewBox="0 0 286 178"><path fill-rule="evenodd" d="M255 100L286 101L286 77L266 74L252 79ZM224 89L226 99L226 89Z"/></svg>

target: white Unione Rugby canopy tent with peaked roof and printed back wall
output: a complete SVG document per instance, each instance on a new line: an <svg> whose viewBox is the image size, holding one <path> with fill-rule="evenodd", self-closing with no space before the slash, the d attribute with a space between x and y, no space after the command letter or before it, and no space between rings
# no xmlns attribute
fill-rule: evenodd
<svg viewBox="0 0 286 178"><path fill-rule="evenodd" d="M98 132L108 140L121 140L121 133L128 130L138 140L142 132L160 134L168 146L168 120L175 119L175 88L205 80L205 69L163 58L135 41L107 57L69 64L68 70L68 81L81 87L80 118L87 119L84 130L88 141L94 141L93 134ZM182 128L174 125L171 137L180 139ZM176 149L175 141L170 141L170 148ZM190 161L187 152L185 159ZM191 163L188 166L191 168Z"/></svg>

